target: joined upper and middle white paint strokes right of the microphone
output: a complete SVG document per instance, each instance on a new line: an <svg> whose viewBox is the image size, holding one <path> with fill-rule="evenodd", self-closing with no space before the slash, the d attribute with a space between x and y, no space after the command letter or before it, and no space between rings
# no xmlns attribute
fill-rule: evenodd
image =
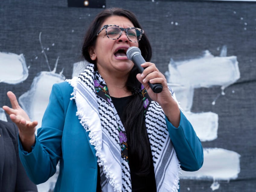
<svg viewBox="0 0 256 192"><path fill-rule="evenodd" d="M236 56L226 55L227 47L223 46L219 57L205 51L204 55L197 59L181 62L174 62L171 59L169 71L165 73L168 86L173 88L184 114L194 126L201 141L212 141L217 138L218 114L191 112L194 89L220 86L221 94L225 95L224 89L240 78ZM216 99L218 97L219 95ZM212 104L215 104L216 99Z"/></svg>

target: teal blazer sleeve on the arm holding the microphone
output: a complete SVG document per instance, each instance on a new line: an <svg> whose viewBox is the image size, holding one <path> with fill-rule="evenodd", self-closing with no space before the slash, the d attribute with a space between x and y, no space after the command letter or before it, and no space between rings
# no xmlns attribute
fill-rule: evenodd
<svg viewBox="0 0 256 192"><path fill-rule="evenodd" d="M172 144L181 168L184 171L197 171L203 165L203 147L193 126L181 111L178 128L174 127L165 117Z"/></svg>

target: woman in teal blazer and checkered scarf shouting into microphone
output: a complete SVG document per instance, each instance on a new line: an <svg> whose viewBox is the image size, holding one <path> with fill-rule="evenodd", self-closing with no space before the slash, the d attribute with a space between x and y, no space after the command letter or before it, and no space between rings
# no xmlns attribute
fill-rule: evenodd
<svg viewBox="0 0 256 192"><path fill-rule="evenodd" d="M151 46L135 15L105 9L85 35L89 64L78 78L53 85L37 130L8 92L19 126L20 156L34 183L45 182L60 162L55 191L178 191L180 167L196 171L203 150L167 81L149 62ZM142 74L126 57L139 47ZM148 85L160 83L161 93Z"/></svg>

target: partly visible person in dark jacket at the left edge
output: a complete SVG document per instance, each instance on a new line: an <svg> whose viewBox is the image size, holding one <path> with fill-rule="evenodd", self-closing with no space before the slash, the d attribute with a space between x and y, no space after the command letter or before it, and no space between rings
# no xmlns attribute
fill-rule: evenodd
<svg viewBox="0 0 256 192"><path fill-rule="evenodd" d="M0 120L0 191L37 192L21 164L18 149L18 128Z"/></svg>

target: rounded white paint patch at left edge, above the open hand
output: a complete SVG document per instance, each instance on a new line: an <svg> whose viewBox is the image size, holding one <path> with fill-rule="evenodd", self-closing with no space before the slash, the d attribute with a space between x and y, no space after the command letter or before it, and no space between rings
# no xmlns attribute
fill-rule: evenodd
<svg viewBox="0 0 256 192"><path fill-rule="evenodd" d="M0 52L0 68L0 82L18 84L28 77L27 64L23 54Z"/></svg>

